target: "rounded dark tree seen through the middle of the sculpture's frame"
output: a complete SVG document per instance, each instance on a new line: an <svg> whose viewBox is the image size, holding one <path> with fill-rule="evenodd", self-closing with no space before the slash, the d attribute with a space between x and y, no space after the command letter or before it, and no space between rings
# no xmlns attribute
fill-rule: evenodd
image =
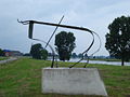
<svg viewBox="0 0 130 97"><path fill-rule="evenodd" d="M60 60L69 60L73 50L76 47L76 38L74 33L61 31L55 36L56 51L60 56Z"/></svg>

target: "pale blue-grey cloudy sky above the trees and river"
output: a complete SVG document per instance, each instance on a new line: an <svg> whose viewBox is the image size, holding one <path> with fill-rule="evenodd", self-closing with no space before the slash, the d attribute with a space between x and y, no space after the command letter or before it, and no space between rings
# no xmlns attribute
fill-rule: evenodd
<svg viewBox="0 0 130 97"><path fill-rule="evenodd" d="M105 34L108 25L122 15L130 15L130 0L0 0L0 48L21 51L28 53L31 44L41 43L28 39L28 25L17 23L20 20L39 20L58 23L64 15L63 25L84 27L95 31L102 41L101 50L95 54L108 56L105 48ZM55 27L35 25L34 38L48 41ZM89 32L58 28L61 31L73 32L76 37L75 53L82 53L91 43ZM54 45L54 37L50 44ZM43 43L41 43L44 46ZM99 47L99 40L89 54ZM49 47L47 48L49 50ZM49 50L50 51L50 50Z"/></svg>

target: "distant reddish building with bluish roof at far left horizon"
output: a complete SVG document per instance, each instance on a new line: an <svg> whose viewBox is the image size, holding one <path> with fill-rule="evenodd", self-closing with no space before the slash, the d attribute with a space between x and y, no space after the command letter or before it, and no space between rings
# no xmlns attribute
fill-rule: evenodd
<svg viewBox="0 0 130 97"><path fill-rule="evenodd" d="M20 51L3 50L5 56L23 56Z"/></svg>

